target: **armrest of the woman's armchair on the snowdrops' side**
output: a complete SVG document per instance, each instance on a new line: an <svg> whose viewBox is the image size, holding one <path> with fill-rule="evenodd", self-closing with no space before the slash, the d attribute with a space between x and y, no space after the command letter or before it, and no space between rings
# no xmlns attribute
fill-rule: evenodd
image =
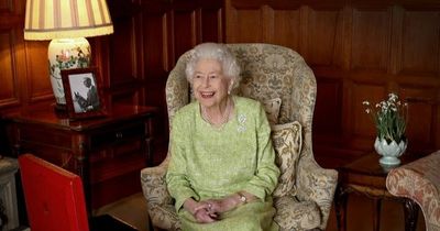
<svg viewBox="0 0 440 231"><path fill-rule="evenodd" d="M318 205L322 221L319 228L324 230L338 184L338 172L322 168L310 156L305 156L300 160L304 163L298 164L296 197L301 201L315 201Z"/></svg>

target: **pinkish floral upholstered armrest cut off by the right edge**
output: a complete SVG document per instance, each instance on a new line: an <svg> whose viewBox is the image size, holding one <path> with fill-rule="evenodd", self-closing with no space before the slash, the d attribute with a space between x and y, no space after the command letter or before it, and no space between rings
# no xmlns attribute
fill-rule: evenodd
<svg viewBox="0 0 440 231"><path fill-rule="evenodd" d="M425 216L427 231L440 231L440 151L392 169L386 187L392 195L416 201Z"/></svg>

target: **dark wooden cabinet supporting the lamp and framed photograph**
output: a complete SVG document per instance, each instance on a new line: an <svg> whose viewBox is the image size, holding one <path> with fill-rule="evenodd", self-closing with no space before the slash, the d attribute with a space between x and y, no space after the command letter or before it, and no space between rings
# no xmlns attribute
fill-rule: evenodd
<svg viewBox="0 0 440 231"><path fill-rule="evenodd" d="M16 155L33 153L80 175L92 209L141 190L151 165L152 107L113 105L102 118L69 121L52 107L4 117Z"/></svg>

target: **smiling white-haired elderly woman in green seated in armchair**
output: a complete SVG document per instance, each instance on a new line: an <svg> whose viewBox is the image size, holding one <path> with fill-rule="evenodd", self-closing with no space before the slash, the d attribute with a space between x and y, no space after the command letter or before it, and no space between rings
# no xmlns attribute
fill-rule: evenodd
<svg viewBox="0 0 440 231"><path fill-rule="evenodd" d="M184 230L278 230L271 194L279 169L260 102L232 96L240 67L224 45L193 50L195 102L174 117L166 175Z"/></svg>

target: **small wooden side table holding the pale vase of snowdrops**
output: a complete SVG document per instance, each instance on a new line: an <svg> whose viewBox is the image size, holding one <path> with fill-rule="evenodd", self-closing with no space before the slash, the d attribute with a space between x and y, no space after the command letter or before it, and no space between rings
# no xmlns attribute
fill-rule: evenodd
<svg viewBox="0 0 440 231"><path fill-rule="evenodd" d="M338 169L339 183L334 196L334 208L339 231L346 231L346 202L349 194L351 193L363 195L374 200L374 231L380 231L381 206L383 199L402 202L405 212L405 230L416 230L419 210L418 205L410 199L395 197L388 193L385 184L389 167L381 166L378 163L380 157L377 153L372 152ZM407 164L416 158L416 156L404 154L400 157L400 165Z"/></svg>

